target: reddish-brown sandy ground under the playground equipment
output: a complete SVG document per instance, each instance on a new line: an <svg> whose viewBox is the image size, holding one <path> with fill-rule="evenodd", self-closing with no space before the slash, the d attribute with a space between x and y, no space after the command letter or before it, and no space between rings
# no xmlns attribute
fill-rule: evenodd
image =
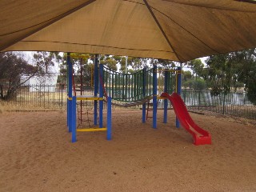
<svg viewBox="0 0 256 192"><path fill-rule="evenodd" d="M212 145L194 146L174 127L158 129L141 110L114 110L113 139L78 133L71 143L66 113L0 114L0 191L256 191L256 126L202 114Z"/></svg>

